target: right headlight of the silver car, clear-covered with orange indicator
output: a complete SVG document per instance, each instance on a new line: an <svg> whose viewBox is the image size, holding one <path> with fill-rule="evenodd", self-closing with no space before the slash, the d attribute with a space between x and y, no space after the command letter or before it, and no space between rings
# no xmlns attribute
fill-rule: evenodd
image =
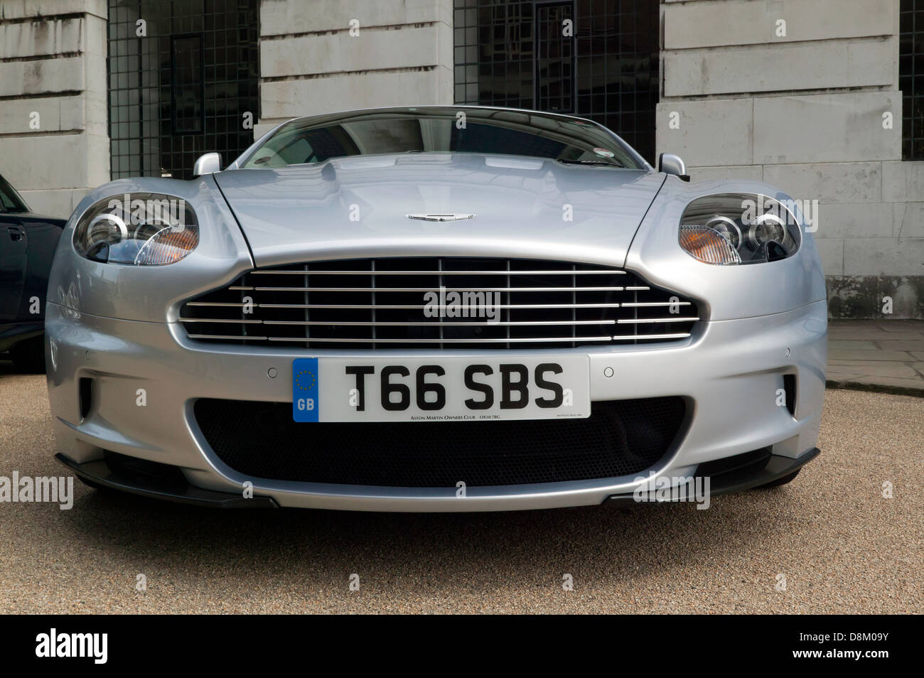
<svg viewBox="0 0 924 678"><path fill-rule="evenodd" d="M785 259L799 248L796 216L779 200L723 193L693 200L680 220L680 247L706 263Z"/></svg>

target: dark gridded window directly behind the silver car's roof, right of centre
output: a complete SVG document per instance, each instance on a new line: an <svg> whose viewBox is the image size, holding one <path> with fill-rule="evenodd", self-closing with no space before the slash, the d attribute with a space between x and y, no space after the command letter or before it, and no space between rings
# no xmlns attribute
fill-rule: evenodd
<svg viewBox="0 0 924 678"><path fill-rule="evenodd" d="M588 117L654 161L658 2L454 3L456 103ZM565 18L573 37L563 34Z"/></svg>

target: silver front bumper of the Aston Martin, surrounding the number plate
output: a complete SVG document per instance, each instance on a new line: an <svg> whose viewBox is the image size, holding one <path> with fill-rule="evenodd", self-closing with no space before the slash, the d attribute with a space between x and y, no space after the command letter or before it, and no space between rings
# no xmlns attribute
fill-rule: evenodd
<svg viewBox="0 0 924 678"><path fill-rule="evenodd" d="M632 495L642 482L640 476L648 480L646 472L622 478L470 487L462 499L456 496L456 488L248 478L213 454L192 406L199 398L291 402L289 365L294 358L305 357L305 351L197 345L176 323L120 321L79 314L54 303L47 307L46 334L49 397L59 453L75 472L96 478L97 484L105 484L100 482L102 468L86 465L99 462L105 451L178 466L188 485L199 490L240 497L242 486L249 481L255 497L280 506L364 511L588 505ZM778 478L816 454L826 338L826 307L819 301L771 316L703 322L694 336L682 342L542 353L587 354L594 401L673 395L687 399L684 435L650 470L668 477L688 477L696 474L700 464L769 448L773 462L768 468L773 473L783 469ZM325 353L343 355L332 351L312 351L311 355L323 357ZM484 352L451 353L477 356ZM270 368L278 372L275 379L267 374ZM607 368L613 369L613 377L605 376ZM796 378L793 414L778 404L785 374ZM81 406L81 379L92 383L89 407ZM760 473L748 482L753 480L754 485L775 479ZM117 482L117 478L110 479ZM747 482L730 489L743 484ZM126 483L121 489L128 489ZM713 486L712 492L720 490Z"/></svg>

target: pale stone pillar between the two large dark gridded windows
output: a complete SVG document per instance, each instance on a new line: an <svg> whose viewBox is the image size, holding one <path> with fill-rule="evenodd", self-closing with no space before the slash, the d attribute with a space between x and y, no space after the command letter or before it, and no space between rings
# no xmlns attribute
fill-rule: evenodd
<svg viewBox="0 0 924 678"><path fill-rule="evenodd" d="M297 115L453 103L452 9L452 0L262 0L255 136Z"/></svg>

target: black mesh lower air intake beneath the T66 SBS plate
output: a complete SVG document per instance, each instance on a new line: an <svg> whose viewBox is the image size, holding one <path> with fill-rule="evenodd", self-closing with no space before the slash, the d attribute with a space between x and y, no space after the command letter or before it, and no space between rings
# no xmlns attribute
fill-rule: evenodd
<svg viewBox="0 0 924 678"><path fill-rule="evenodd" d="M668 452L685 411L663 397L596 402L585 419L300 424L291 403L194 406L213 453L245 476L431 488L637 474Z"/></svg>

